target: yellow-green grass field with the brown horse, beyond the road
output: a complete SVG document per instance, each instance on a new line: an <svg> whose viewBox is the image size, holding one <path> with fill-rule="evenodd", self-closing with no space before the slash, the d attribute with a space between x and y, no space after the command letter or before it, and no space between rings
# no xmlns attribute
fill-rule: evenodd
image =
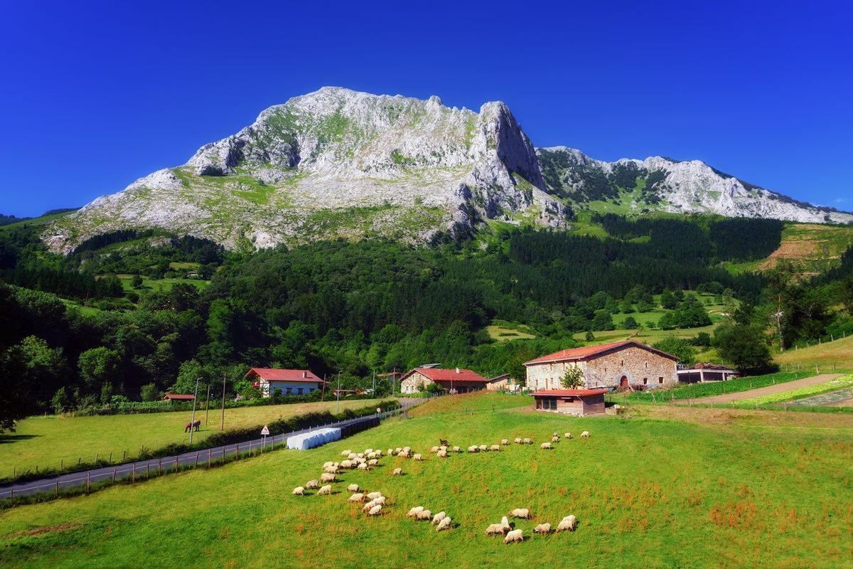
<svg viewBox="0 0 853 569"><path fill-rule="evenodd" d="M340 409L375 407L379 399L341 401ZM279 418L302 415L309 411L331 410L334 402L289 405L262 405L225 409L225 428L252 427ZM183 427L189 422L191 411L174 413L144 413L138 415L102 415L68 417L47 415L20 421L15 433L0 434L0 477L12 476L22 470L39 467L60 467L62 464L94 462L99 458L121 460L125 450L137 456L142 445L154 450L171 443L189 442L189 433ZM194 433L193 441L204 440L219 432L221 411L212 408L207 425L205 412L196 411L202 421L201 430Z"/></svg>

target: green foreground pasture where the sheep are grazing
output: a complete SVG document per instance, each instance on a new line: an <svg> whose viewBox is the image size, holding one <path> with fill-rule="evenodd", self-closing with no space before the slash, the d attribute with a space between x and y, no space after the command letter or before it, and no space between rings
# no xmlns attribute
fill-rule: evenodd
<svg viewBox="0 0 853 569"><path fill-rule="evenodd" d="M439 399L408 420L316 450L279 450L12 508L0 514L0 566L851 566L848 417L821 415L833 426L811 427L810 413L777 422L782 414L735 410L727 421L694 422L505 407L528 402L494 394ZM738 422L740 415L751 421ZM583 429L591 438L577 438ZM552 431L576 438L541 450ZM439 437L467 446L515 436L537 444L447 459L428 454ZM426 460L384 457L372 472L344 473L331 496L291 495L341 450L402 445ZM404 476L391 476L397 466ZM360 504L348 504L351 483L387 496L383 515L368 518ZM418 505L444 510L453 527L437 532L407 519ZM531 508L533 520L515 522L525 542L485 536L512 508ZM577 516L577 531L532 537L535 524L555 525L567 514Z"/></svg>

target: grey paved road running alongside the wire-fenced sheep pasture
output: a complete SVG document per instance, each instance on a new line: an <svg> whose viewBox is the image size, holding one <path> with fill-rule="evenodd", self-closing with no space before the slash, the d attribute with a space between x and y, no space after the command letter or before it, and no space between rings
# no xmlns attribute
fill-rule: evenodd
<svg viewBox="0 0 853 569"><path fill-rule="evenodd" d="M121 480L121 479L136 479L145 478L150 473L168 472L175 470L178 467L188 468L198 465L206 465L222 461L223 457L234 456L238 452L241 456L256 454L263 450L274 448L284 444L287 437L295 434L307 433L318 427L351 427L366 421L374 421L378 417L380 420L387 419L394 415L401 415L410 407L421 404L425 399L399 399L402 407L392 411L386 411L381 415L368 415L366 417L358 417L357 419L347 419L346 421L337 421L328 423L327 425L316 425L293 433L282 433L275 436L267 437L266 440L255 438L253 440L243 441L241 443L226 444L224 446L212 447L205 450L194 450L185 452L177 456L165 456L163 458L153 458L148 461L125 462L110 467L93 468L78 473L63 474L51 478L32 480L30 482L22 482L15 485L7 485L0 487L0 500L7 499L12 496L26 496L37 492L56 492L73 488L76 486L84 486L87 484L95 484L104 480Z"/></svg>

